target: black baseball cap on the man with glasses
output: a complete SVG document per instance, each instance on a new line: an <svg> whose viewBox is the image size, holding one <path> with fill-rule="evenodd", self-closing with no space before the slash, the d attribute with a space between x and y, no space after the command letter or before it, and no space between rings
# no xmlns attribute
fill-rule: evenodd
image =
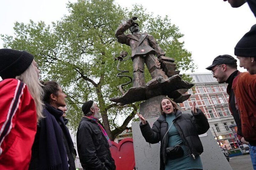
<svg viewBox="0 0 256 170"><path fill-rule="evenodd" d="M209 67L206 67L207 70L212 70L213 66L220 65L220 64L230 64L230 65L236 65L236 59L232 57L231 55L224 54L219 55L218 57L214 58L213 64Z"/></svg>

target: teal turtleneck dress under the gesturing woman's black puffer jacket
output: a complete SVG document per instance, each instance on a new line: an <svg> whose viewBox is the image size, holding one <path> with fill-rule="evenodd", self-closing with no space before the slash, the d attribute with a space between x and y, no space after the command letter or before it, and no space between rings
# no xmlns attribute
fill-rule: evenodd
<svg viewBox="0 0 256 170"><path fill-rule="evenodd" d="M168 159L167 164L165 165L165 170L188 170L188 169L203 169L202 161L200 156L197 156L196 159L188 155L187 149L182 142L182 138L177 130L177 128L172 124L175 119L175 114L171 113L166 115L166 122L168 123L168 145L167 147L175 146L180 144L184 150L184 155L181 158L177 159Z"/></svg>

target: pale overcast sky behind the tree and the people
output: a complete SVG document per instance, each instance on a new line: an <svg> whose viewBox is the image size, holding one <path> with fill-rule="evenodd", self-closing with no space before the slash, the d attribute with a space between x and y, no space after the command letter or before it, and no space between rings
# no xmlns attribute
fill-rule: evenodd
<svg viewBox="0 0 256 170"><path fill-rule="evenodd" d="M14 22L28 23L43 20L46 24L60 20L68 14L67 0L2 0L0 10L0 34L12 35ZM72 0L74 2L74 0ZM256 23L248 4L232 8L223 0L116 0L122 7L141 4L155 15L168 15L172 23L184 34L181 41L192 53L198 69L206 70L213 59L221 54L234 56L234 47L239 39ZM138 16L139 17L139 16ZM139 18L138 18L139 19ZM0 48L3 47L0 40ZM171 56L170 56L171 57ZM239 65L239 63L238 63ZM238 70L245 71L241 68ZM190 72L186 72L190 73Z"/></svg>

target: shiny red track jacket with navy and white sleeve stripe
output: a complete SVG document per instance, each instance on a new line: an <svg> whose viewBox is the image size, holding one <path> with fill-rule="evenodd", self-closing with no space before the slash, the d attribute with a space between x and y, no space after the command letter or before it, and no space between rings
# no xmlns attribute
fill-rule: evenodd
<svg viewBox="0 0 256 170"><path fill-rule="evenodd" d="M37 131L36 106L17 79L0 82L0 169L28 169Z"/></svg>

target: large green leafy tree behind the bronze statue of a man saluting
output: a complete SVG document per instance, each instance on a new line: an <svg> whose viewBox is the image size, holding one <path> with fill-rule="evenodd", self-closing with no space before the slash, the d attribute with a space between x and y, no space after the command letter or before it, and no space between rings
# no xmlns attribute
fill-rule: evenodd
<svg viewBox="0 0 256 170"><path fill-rule="evenodd" d="M73 129L78 127L83 116L81 106L87 100L98 102L111 140L129 128L139 108L139 102L120 107L108 100L122 95L117 87L128 81L116 77L117 63L113 58L122 50L131 54L130 47L118 43L114 36L126 18L138 16L142 32L154 35L167 56L175 58L179 69L194 69L190 52L183 48L184 42L178 41L183 35L168 17L153 17L139 5L124 9L113 0L78 0L67 8L69 15L51 25L32 20L28 24L16 22L14 36L1 36L5 48L34 54L43 80L59 82L68 95L69 126ZM132 76L132 61L124 61L121 69L130 70ZM149 73L146 77L151 79ZM124 90L130 87L127 85Z"/></svg>

